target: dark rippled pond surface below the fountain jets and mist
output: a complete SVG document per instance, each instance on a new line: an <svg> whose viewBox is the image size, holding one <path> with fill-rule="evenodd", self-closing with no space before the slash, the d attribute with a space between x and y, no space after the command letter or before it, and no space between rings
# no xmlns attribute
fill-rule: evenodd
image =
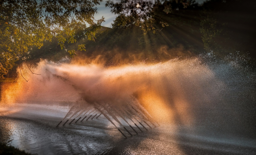
<svg viewBox="0 0 256 155"><path fill-rule="evenodd" d="M37 154L256 154L252 133L221 130L205 121L206 113L228 117L225 110L197 109L204 119L196 126L163 123L138 130L138 135L130 131L132 137L124 131L125 139L104 116L56 128L68 109L36 104L1 108L0 142Z"/></svg>

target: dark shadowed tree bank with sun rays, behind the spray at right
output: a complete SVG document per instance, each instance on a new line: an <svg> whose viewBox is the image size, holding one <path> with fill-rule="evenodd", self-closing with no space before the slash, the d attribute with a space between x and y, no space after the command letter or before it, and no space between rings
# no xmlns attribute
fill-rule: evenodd
<svg viewBox="0 0 256 155"><path fill-rule="evenodd" d="M152 8L154 16L151 17L155 21L154 27L159 29L155 34L144 33L141 27L135 25L136 18L129 13L119 14L112 24L112 29L97 36L96 43L87 45L86 53L82 55L86 55L86 58L97 58L101 55L110 64L115 62L115 59L166 60L205 51L213 51L221 57L235 53L237 50L240 50L240 53L250 51L250 56L253 56L255 29L250 19L255 19L256 16L253 17L252 13L247 13L245 10L242 13L238 12L237 10L241 10L239 5L247 8L246 3L243 4L242 0L238 1L233 3L227 1L228 4L221 2L226 6L226 8L220 6L223 11L207 10L204 5L200 6L195 1L186 1L186 4L189 4L187 6L180 1L176 3L175 0L154 3ZM116 7L114 9L117 11L119 10L117 8L127 9L122 5L117 6L121 1L118 2L111 4ZM214 1L208 1L207 4L209 2ZM237 3L237 7L229 11L229 7L234 3ZM166 7L170 7L168 14L164 12ZM129 9L126 12L128 11ZM160 25L160 22L168 23L169 26L163 28L164 25ZM119 59L116 58L117 55L121 55ZM128 62L132 63L132 61Z"/></svg>

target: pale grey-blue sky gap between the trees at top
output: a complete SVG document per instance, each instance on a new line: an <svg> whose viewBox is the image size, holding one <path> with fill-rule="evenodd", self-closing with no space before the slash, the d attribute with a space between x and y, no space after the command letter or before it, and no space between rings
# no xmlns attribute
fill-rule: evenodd
<svg viewBox="0 0 256 155"><path fill-rule="evenodd" d="M206 0L195 0L199 4L203 3ZM102 16L105 18L105 22L101 25L104 27L111 27L111 23L115 20L116 16L114 13L111 13L111 9L109 7L105 7L106 0L102 1L100 5L97 5L98 13L94 16L95 19L101 19Z"/></svg>

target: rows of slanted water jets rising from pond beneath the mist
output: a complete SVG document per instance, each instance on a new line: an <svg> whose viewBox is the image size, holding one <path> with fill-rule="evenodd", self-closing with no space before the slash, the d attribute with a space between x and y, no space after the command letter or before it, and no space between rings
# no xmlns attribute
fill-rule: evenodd
<svg viewBox="0 0 256 155"><path fill-rule="evenodd" d="M133 102L132 100L134 100L133 96L130 97L130 102ZM84 102L88 103L87 101L84 101ZM70 111L68 111L71 117L69 117L68 120L66 120L62 126L65 126L69 120L71 121L68 123L68 125L76 125L77 123L86 124L87 122L82 122L83 120L85 120L86 117L87 117L86 121L88 120L94 121L93 118L95 118L97 115L98 115L96 117L97 120L99 120L99 117L103 115L108 121L111 122L112 125L115 126L117 131L119 131L125 138L127 138L125 133L128 133L132 137L134 136L132 135L132 132L134 132L136 135L139 134L135 130L135 127L137 127L141 132L143 132L141 130L141 127L145 128L146 131L152 128L147 123L147 122L151 122L149 121L149 117L146 117L146 115L149 115L149 113L146 114L145 112L147 111L145 109L141 110L141 108L143 107L139 107L137 104L139 104L139 102L133 103L132 105L130 104L122 105L122 104L116 104L116 103L110 104L109 102L107 104L105 102L102 102L101 104L99 104L97 102L94 102L92 104L93 106L77 107L79 110L73 110L73 108L71 107ZM119 105L119 106L116 106L116 105ZM129 106L130 108L125 108L127 106ZM86 112L83 113L84 111ZM141 117L140 115L143 115L144 117ZM77 117L78 117L78 120L75 121ZM78 122L82 117L83 119L80 122ZM134 118L137 122L139 122L141 127L139 127L132 118ZM61 120L56 127L60 126L64 120L65 118L63 118L63 120ZM73 123L73 121L75 121L75 123ZM141 122L143 122L144 125L149 126L149 128L146 128ZM135 125L134 127L132 127L132 123ZM130 127L131 130L128 130L126 127Z"/></svg>

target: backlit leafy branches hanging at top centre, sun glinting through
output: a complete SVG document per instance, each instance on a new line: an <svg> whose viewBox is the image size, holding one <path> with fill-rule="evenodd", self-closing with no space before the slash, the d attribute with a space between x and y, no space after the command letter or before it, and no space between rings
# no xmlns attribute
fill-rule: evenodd
<svg viewBox="0 0 256 155"><path fill-rule="evenodd" d="M163 2L163 4L161 3ZM161 18L161 13L171 13L172 3L180 4L186 8L193 0L171 0L171 1L144 1L144 0L119 0L117 2L107 1L106 7L111 8L111 12L118 14L112 28L140 27L145 33L154 34L161 28L168 26ZM163 9L161 9L164 7ZM160 9L160 10L159 10Z"/></svg>

